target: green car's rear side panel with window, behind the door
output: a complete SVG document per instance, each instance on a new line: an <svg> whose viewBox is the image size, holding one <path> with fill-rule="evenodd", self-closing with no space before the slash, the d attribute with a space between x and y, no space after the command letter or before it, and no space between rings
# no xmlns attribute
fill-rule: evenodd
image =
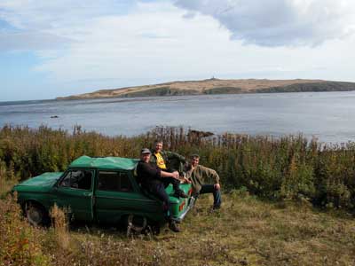
<svg viewBox="0 0 355 266"><path fill-rule="evenodd" d="M95 192L99 223L118 223L130 214L151 218L160 210L155 200L137 191L130 177L129 171L99 170Z"/></svg>

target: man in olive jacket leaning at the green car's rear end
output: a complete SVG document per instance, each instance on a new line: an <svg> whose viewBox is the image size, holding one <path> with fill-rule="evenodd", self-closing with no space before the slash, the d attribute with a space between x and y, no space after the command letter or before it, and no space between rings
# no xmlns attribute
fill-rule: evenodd
<svg viewBox="0 0 355 266"><path fill-rule="evenodd" d="M214 169L199 165L200 156L193 154L190 163L185 167L186 178L193 184L193 197L197 199L200 194L213 193L213 207L221 207L221 185L219 176ZM213 180L214 184L205 184L207 180Z"/></svg>

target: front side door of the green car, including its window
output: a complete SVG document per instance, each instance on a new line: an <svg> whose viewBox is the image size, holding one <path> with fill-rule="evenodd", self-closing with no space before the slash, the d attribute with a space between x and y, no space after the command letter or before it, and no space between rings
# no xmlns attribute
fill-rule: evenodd
<svg viewBox="0 0 355 266"><path fill-rule="evenodd" d="M60 178L56 186L56 203L68 207L75 220L93 220L94 169L73 168Z"/></svg>

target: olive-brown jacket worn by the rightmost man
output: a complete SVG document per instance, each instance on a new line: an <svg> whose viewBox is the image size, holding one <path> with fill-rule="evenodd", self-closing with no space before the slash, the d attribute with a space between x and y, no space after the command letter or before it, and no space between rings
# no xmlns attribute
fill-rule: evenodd
<svg viewBox="0 0 355 266"><path fill-rule="evenodd" d="M191 166L185 168L186 178L190 179L193 184L193 192L200 192L202 184L214 184L219 183L219 176L214 169L206 168L201 165L197 165L193 170Z"/></svg>

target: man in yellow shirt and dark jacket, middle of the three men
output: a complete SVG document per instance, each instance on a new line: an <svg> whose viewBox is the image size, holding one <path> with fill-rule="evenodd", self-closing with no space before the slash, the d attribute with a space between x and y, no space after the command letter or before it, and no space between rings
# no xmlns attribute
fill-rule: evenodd
<svg viewBox="0 0 355 266"><path fill-rule="evenodd" d="M164 171L173 172L177 170L180 175L183 172L185 165L185 157L178 154L162 150L162 141L156 140L154 142L154 150L152 151L152 156L150 157L150 162L156 164L159 168ZM175 163L175 165L173 165Z"/></svg>

